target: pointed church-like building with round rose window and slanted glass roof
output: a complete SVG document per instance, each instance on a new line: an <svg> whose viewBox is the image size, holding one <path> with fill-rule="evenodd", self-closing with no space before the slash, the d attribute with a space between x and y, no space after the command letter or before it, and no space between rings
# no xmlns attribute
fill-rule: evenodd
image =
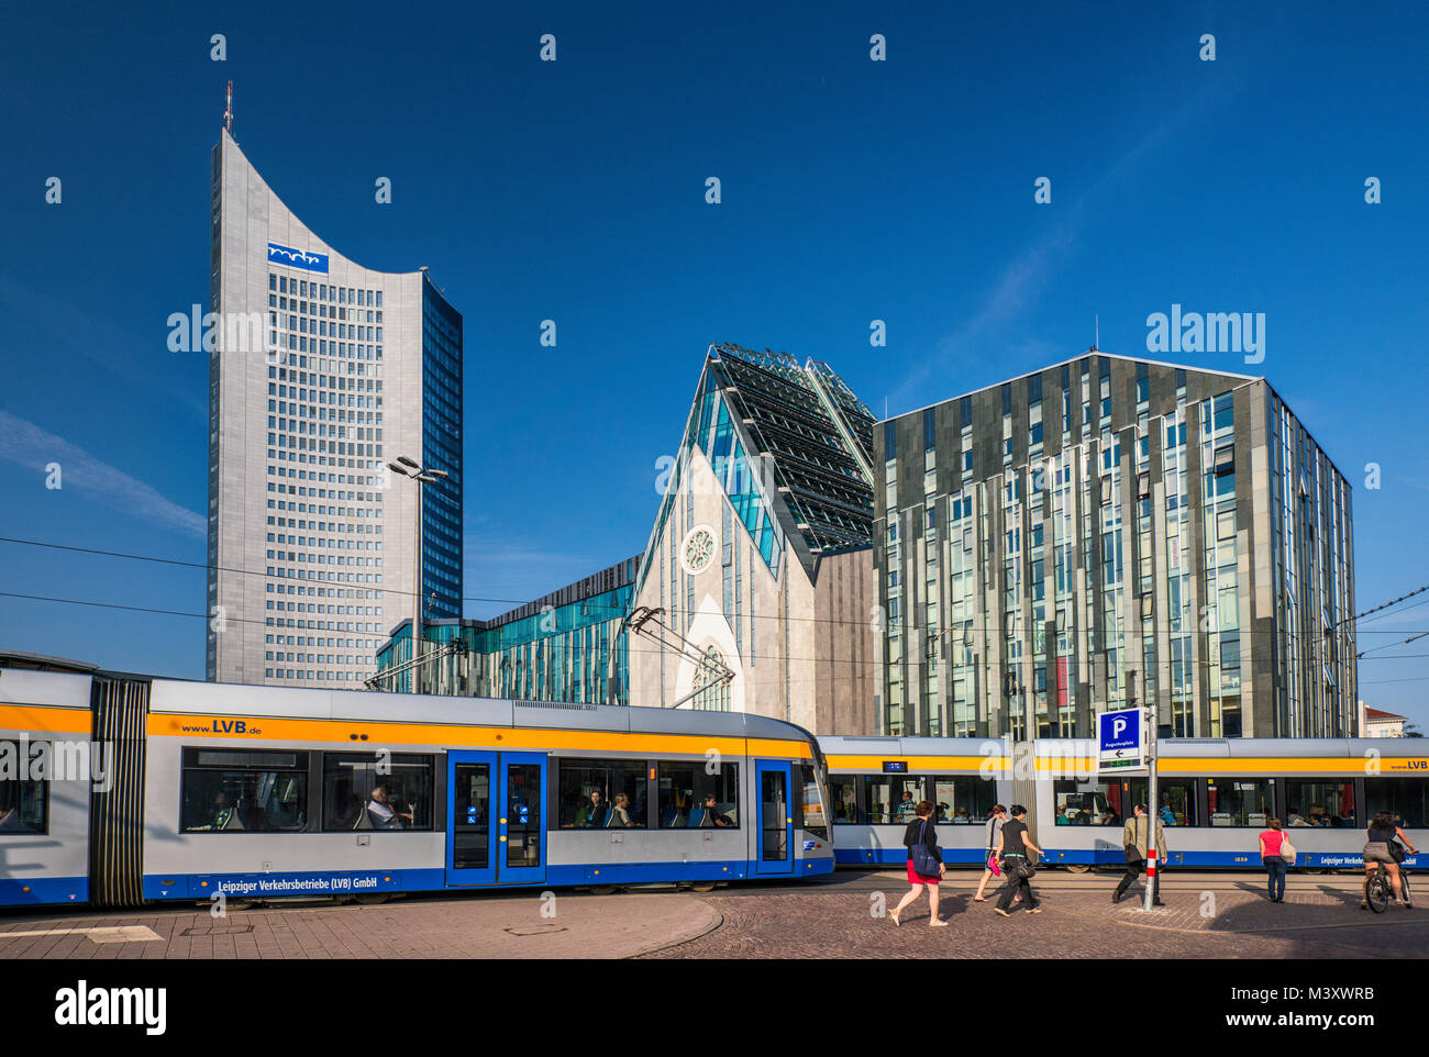
<svg viewBox="0 0 1429 1057"><path fill-rule="evenodd" d="M823 363L709 349L634 584L630 704L875 733L873 424Z"/></svg>

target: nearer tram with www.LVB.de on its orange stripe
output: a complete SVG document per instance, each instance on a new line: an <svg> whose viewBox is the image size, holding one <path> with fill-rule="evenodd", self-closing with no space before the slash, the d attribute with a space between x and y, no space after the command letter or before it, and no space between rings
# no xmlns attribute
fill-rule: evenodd
<svg viewBox="0 0 1429 1057"><path fill-rule="evenodd" d="M806 878L822 773L757 716L3 668L0 906Z"/></svg>

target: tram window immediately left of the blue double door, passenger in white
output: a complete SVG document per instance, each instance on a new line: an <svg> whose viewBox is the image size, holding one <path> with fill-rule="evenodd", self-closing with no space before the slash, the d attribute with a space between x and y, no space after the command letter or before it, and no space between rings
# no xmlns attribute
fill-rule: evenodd
<svg viewBox="0 0 1429 1057"><path fill-rule="evenodd" d="M324 753L323 830L430 830L434 776L430 756Z"/></svg>

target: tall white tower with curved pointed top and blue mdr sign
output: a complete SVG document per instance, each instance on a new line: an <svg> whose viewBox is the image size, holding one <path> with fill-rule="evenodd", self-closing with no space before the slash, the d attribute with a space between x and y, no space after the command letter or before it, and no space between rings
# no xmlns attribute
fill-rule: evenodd
<svg viewBox="0 0 1429 1057"><path fill-rule="evenodd" d="M462 316L213 149L207 678L360 686L413 610L462 616ZM417 497L399 456L449 476Z"/></svg>

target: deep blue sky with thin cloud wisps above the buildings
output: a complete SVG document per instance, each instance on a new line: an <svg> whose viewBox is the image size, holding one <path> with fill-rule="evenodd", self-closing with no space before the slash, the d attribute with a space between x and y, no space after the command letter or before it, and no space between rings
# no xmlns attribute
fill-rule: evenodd
<svg viewBox="0 0 1429 1057"><path fill-rule="evenodd" d="M827 360L897 414L1076 356L1093 317L1145 354L1173 303L1265 313L1259 367L1159 359L1263 373L1310 427L1356 486L1359 608L1429 583L1425 9L770 7L6 4L0 536L204 561L206 366L166 320L207 294L231 79L279 196L464 314L467 596L644 546L712 341ZM197 613L203 574L0 543L0 591ZM1372 654L1362 696L1429 723L1429 657L1379 660L1426 643ZM0 597L0 644L203 673L184 616Z"/></svg>

